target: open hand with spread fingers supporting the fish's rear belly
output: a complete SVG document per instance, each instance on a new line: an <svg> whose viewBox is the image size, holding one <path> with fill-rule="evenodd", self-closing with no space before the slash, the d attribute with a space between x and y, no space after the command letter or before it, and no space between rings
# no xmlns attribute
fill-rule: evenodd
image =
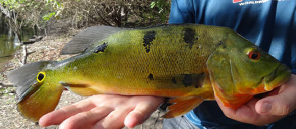
<svg viewBox="0 0 296 129"><path fill-rule="evenodd" d="M156 96L93 95L42 116L41 127L132 128L144 122L163 103Z"/></svg>

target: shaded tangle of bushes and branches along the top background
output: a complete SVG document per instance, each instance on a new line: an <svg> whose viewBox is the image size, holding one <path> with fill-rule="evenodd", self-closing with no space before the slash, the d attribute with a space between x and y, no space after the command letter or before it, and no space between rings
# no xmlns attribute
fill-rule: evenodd
<svg viewBox="0 0 296 129"><path fill-rule="evenodd" d="M26 27L35 35L48 35L98 24L139 27L167 23L170 1L0 0L0 7L1 31L21 33Z"/></svg>

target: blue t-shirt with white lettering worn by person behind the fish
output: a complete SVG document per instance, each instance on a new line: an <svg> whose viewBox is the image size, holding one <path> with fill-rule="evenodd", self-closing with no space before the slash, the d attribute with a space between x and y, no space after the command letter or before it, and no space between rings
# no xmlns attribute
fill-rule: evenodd
<svg viewBox="0 0 296 129"><path fill-rule="evenodd" d="M296 73L294 0L173 0L169 23L198 23L232 28L292 68L292 73ZM200 128L257 127L227 118L215 101L203 102L186 114L186 117ZM296 128L296 115L257 128L270 127Z"/></svg>

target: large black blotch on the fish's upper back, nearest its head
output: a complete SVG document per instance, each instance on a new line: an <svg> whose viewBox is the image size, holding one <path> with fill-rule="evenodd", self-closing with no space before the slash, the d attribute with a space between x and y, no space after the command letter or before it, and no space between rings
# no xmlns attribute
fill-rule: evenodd
<svg viewBox="0 0 296 129"><path fill-rule="evenodd" d="M198 38L195 38L195 30L191 29L191 28L184 28L183 29L184 31L184 42L188 44L189 48L191 49L192 46L193 46L193 43L194 43L194 40L198 39Z"/></svg>

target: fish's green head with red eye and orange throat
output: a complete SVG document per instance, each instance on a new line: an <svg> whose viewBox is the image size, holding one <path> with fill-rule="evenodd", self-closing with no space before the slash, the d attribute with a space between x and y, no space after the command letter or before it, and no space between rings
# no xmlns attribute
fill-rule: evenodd
<svg viewBox="0 0 296 129"><path fill-rule="evenodd" d="M224 105L238 108L255 94L282 85L291 70L273 56L229 31L207 60L211 84Z"/></svg>

